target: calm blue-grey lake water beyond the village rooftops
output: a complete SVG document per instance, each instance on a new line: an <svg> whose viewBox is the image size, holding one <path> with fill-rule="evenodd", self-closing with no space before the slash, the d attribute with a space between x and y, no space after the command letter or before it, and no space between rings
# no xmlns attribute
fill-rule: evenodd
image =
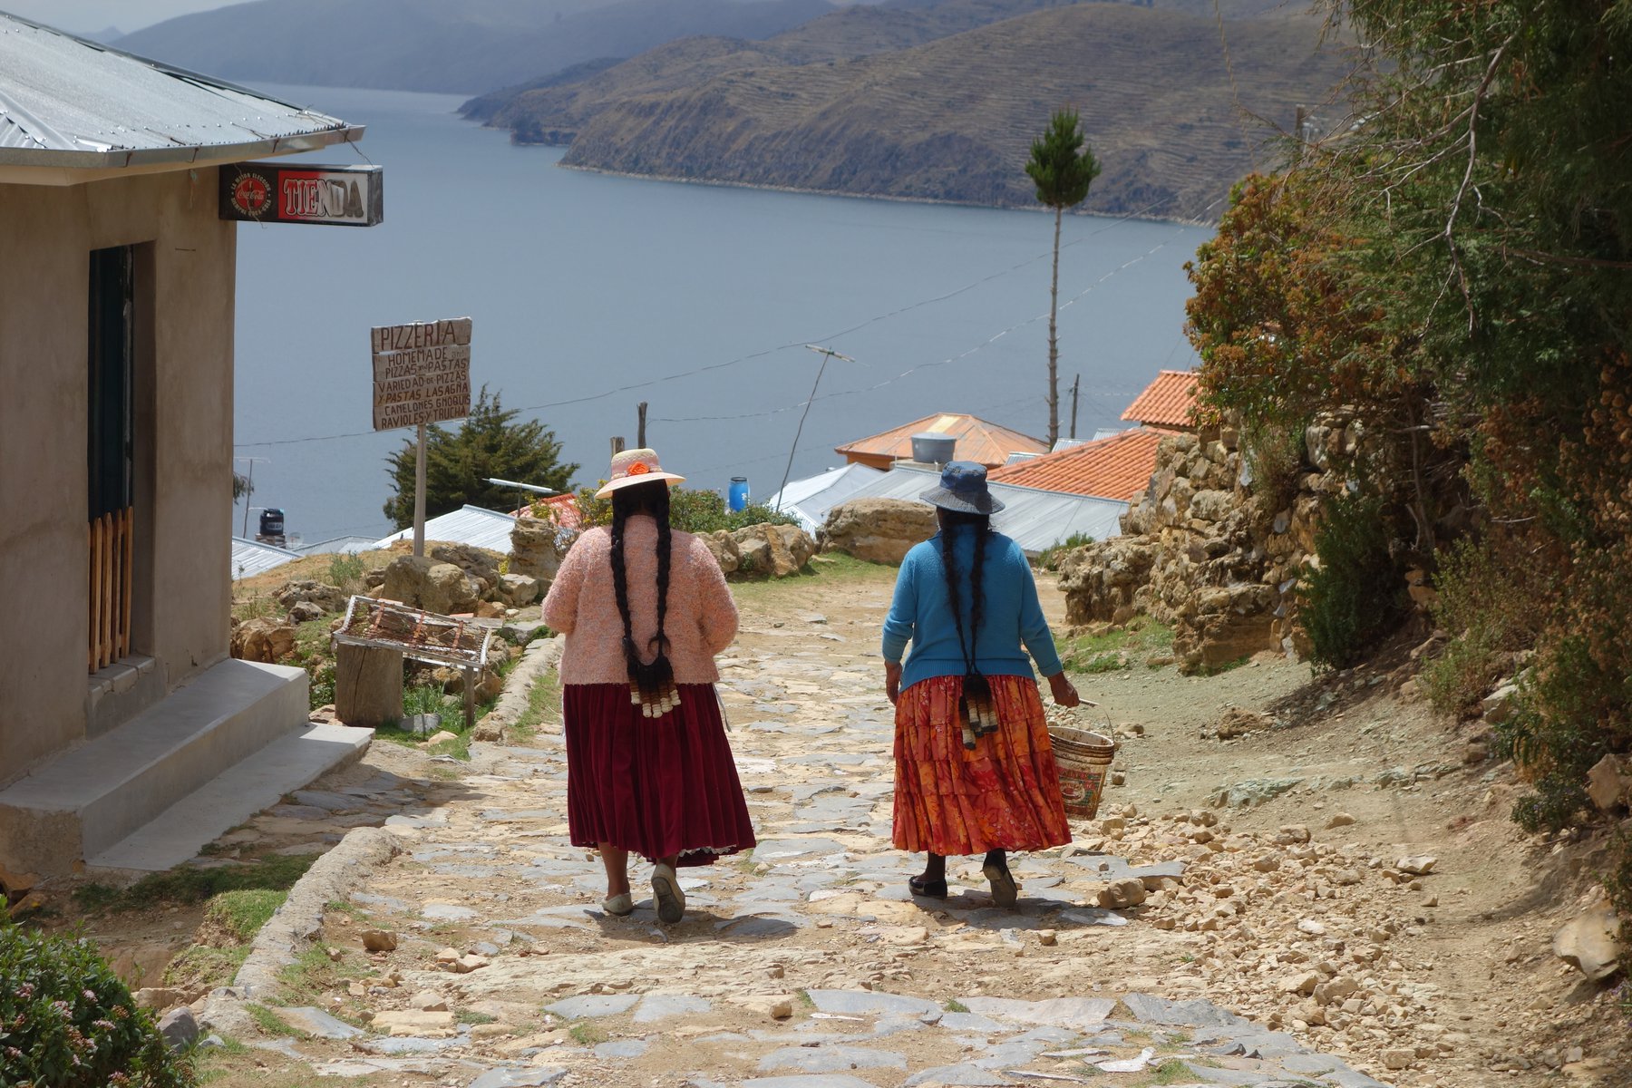
<svg viewBox="0 0 1632 1088"><path fill-rule="evenodd" d="M307 543L392 530L385 457L411 431L370 431L375 325L472 316L472 387L553 429L579 483L605 473L609 436L633 445L645 400L664 468L770 496L821 362L808 343L855 362L827 365L793 480L932 413L1048 431L1046 214L561 170L560 148L459 119L459 98L266 90L366 124L357 150L385 166L379 227L238 228L235 453L268 458L251 502ZM1066 217L1061 434L1074 375L1090 436L1159 369L1193 365L1183 263L1208 237Z"/></svg>

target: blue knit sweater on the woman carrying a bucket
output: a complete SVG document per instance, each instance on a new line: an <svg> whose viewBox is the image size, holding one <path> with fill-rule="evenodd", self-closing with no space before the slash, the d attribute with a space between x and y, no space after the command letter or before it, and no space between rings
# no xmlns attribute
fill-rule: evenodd
<svg viewBox="0 0 1632 1088"><path fill-rule="evenodd" d="M885 618L885 659L901 661L912 643L901 674L901 687L907 688L929 677L963 675L963 652L958 648L958 628L947 599L947 571L940 563L943 533L935 533L907 551L896 577L896 597ZM958 568L958 600L963 612L965 639L969 633L969 569L974 566L974 533L961 529L955 533L953 555ZM981 577L979 636L971 646L976 669L984 675L1031 675L1036 659L1044 677L1061 670L1054 636L1043 618L1043 605L1036 599L1036 582L1025 551L1009 537L991 533L986 538L986 564ZM1023 648L1022 648L1023 646Z"/></svg>

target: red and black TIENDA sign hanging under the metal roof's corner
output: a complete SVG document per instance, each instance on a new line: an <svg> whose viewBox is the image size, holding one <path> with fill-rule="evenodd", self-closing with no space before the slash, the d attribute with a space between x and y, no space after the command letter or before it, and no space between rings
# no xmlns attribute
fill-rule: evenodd
<svg viewBox="0 0 1632 1088"><path fill-rule="evenodd" d="M220 168L220 217L372 227L385 219L384 168L228 163Z"/></svg>

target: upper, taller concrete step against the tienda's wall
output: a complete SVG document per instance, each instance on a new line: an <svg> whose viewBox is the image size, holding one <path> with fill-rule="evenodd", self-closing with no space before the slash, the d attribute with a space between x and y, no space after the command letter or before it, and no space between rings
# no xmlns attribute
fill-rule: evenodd
<svg viewBox="0 0 1632 1088"><path fill-rule="evenodd" d="M0 791L0 855L65 873L273 741L307 726L304 669L222 661Z"/></svg>

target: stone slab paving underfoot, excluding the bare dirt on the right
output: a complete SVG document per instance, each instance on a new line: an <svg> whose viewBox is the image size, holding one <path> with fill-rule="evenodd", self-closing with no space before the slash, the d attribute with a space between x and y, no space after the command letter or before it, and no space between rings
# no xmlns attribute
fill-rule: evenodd
<svg viewBox="0 0 1632 1088"><path fill-rule="evenodd" d="M346 982L276 1010L299 1037L263 1046L322 1077L460 1088L1384 1083L1301 1042L1291 1013L1235 1011L1266 997L1291 1010L1342 977L1333 966L1309 990L1283 985L1299 962L1324 967L1319 923L1299 935L1309 954L1244 974L1239 1002L1191 971L1227 913L1204 905L1226 892L1196 905L1183 891L1188 866L1224 856L1206 845L1211 816L1165 824L1160 851L1146 848L1154 834L1118 850L1134 814L1080 825L1077 843L1012 860L1013 909L991 902L978 858L953 860L950 899L914 899L920 858L889 845L886 592L867 584L845 602L873 620L744 608L720 690L761 842L682 869L681 923L658 923L645 865L635 913L601 910L601 861L568 842L558 734L477 745L437 804L385 820L403 853L325 917ZM1165 925L1149 905L1097 905L1129 879L1165 902ZM395 948L366 951L370 930ZM1358 984L1333 993L1356 992L1373 1011Z"/></svg>

